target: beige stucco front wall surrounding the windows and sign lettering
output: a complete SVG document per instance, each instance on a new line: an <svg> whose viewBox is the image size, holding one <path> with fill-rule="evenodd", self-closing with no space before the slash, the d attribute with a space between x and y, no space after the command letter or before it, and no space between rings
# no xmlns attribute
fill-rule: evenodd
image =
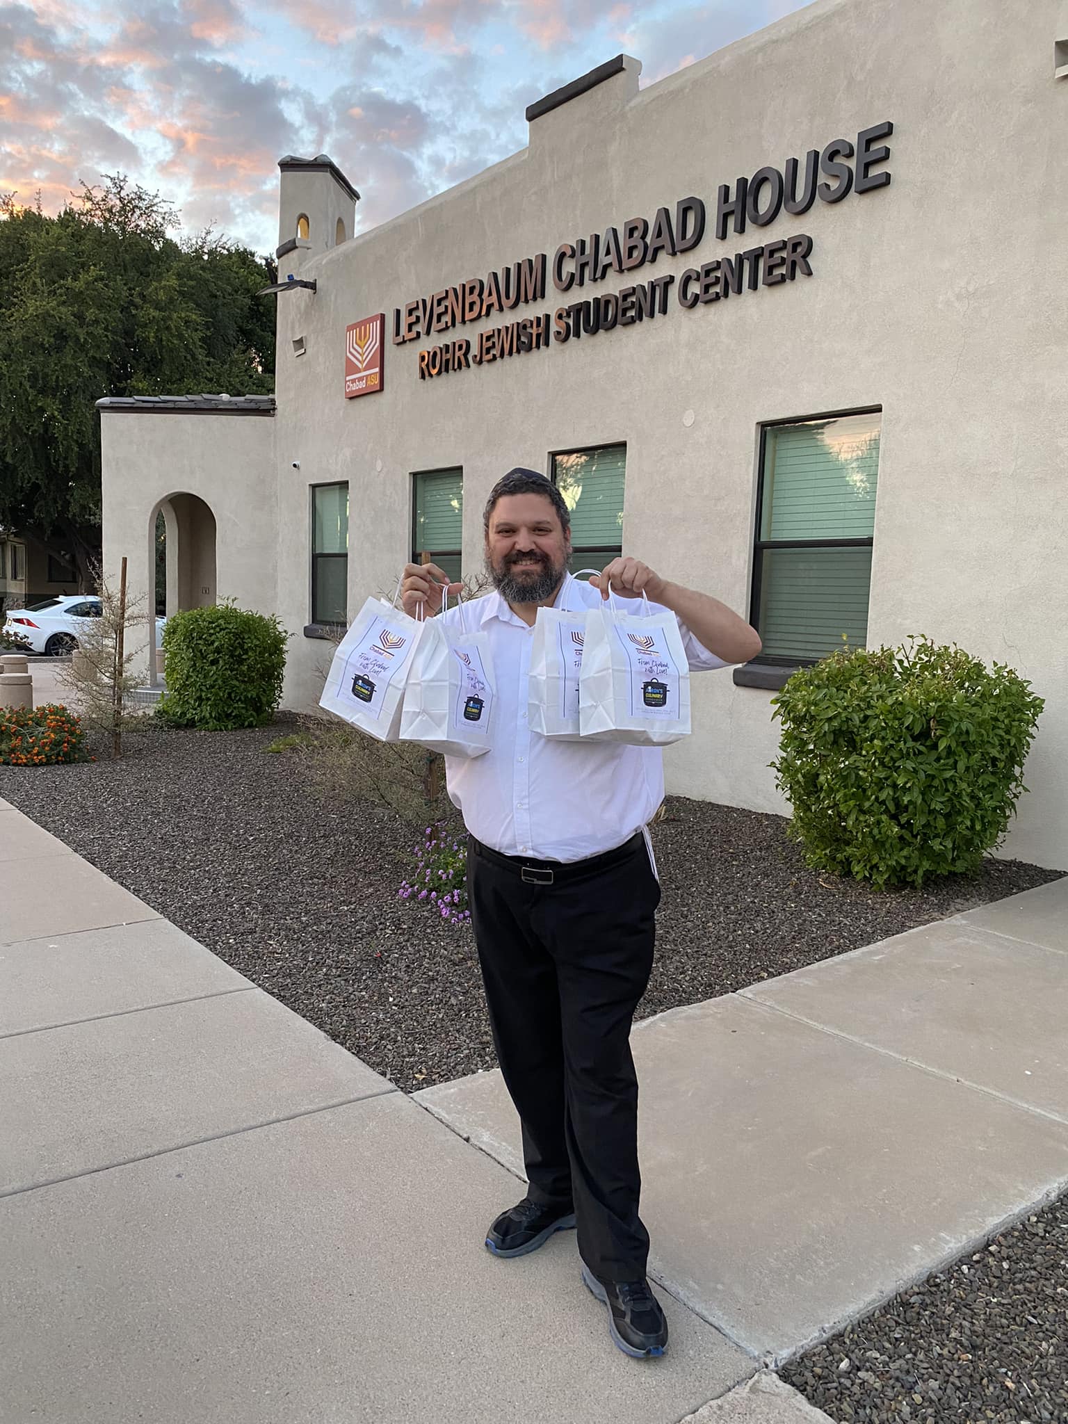
<svg viewBox="0 0 1068 1424"><path fill-rule="evenodd" d="M632 71L617 75L531 124L523 152L306 261L302 276L318 292L278 302L272 547L286 627L299 634L309 618L309 484L350 481L355 612L366 594L392 592L407 555L410 471L463 466L471 570L497 476L609 441L627 443L627 551L745 612L760 424L881 406L869 642L927 632L1034 681L1048 706L1032 795L1004 853L1068 866L1068 83L1054 80L1058 9L826 0L641 93ZM716 241L721 182L886 118L889 188ZM642 326L433 382L417 379L429 342L389 345L384 390L343 399L349 322L386 312L389 337L393 308L412 298L527 255L551 258L565 239L652 218L691 194L709 211L693 253L562 299L550 286L544 303L483 325L796 232L813 238L813 276L695 310L672 293L668 315ZM105 429L131 419L108 417ZM235 461L248 467L249 456ZM236 464L214 468L209 503ZM221 551L221 584L225 567ZM315 703L328 652L295 639L289 705ZM698 679L696 732L666 759L672 789L780 810L769 703L729 672Z"/></svg>

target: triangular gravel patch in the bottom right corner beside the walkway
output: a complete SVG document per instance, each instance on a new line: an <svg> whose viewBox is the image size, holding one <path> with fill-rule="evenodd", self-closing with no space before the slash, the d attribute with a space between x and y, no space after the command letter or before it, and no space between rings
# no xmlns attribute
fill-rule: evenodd
<svg viewBox="0 0 1068 1424"><path fill-rule="evenodd" d="M1068 1196L780 1374L844 1424L1065 1424Z"/></svg>

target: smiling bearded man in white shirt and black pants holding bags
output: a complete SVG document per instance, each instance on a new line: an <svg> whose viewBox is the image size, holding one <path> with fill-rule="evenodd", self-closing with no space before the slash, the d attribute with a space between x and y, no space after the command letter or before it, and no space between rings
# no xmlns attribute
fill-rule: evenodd
<svg viewBox="0 0 1068 1424"><path fill-rule="evenodd" d="M531 635L538 608L595 607L611 590L671 609L695 671L745 662L760 639L715 598L635 558L612 560L590 584L571 578L568 508L534 470L497 483L484 527L497 592L466 607L464 627L490 637L494 739L484 756L447 758L446 773L468 830L471 923L530 1186L486 1246L524 1256L577 1225L582 1279L608 1307L612 1339L658 1356L668 1326L645 1279L629 1031L652 970L659 884L645 826L664 797L661 750L531 733ZM436 614L444 587L461 585L409 564L404 609Z"/></svg>

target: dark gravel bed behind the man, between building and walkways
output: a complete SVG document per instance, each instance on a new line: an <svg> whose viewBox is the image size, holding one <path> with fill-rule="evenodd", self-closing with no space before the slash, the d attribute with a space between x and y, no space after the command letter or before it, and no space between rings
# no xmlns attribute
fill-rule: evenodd
<svg viewBox="0 0 1068 1424"><path fill-rule="evenodd" d="M295 753L246 732L154 729L121 762L0 766L0 796L400 1088L494 1065L470 928L397 899L417 834L332 805ZM422 830L422 827L417 827ZM985 862L974 880L873 891L802 864L780 816L672 797L639 1017L726 994L1057 879Z"/></svg>

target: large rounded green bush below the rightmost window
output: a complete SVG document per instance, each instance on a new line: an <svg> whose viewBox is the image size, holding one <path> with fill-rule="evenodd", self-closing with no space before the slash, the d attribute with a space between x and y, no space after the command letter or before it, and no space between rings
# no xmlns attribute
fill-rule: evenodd
<svg viewBox="0 0 1068 1424"><path fill-rule="evenodd" d="M927 638L795 672L772 699L772 766L806 863L879 887L974 873L1027 790L1044 706L1030 688Z"/></svg>

